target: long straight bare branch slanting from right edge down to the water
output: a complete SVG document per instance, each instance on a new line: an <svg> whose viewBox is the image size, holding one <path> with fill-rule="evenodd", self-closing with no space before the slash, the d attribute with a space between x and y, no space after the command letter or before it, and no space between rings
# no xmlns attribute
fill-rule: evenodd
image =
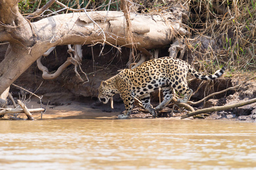
<svg viewBox="0 0 256 170"><path fill-rule="evenodd" d="M247 101L243 101L243 102L237 103L237 104L231 104L231 105L224 105L224 106L220 106L220 107L212 107L212 108L200 109L200 110L197 110L197 111L185 114L184 116L181 116L181 119L187 118L187 117L191 117L191 116L195 116L195 115L201 114L201 113L212 113L212 112L216 112L216 111L225 111L225 110L228 110L228 109L241 107L243 105L247 105L247 104L251 104L251 103L255 103L255 102L256 102L256 98L251 99L251 100L247 100Z"/></svg>

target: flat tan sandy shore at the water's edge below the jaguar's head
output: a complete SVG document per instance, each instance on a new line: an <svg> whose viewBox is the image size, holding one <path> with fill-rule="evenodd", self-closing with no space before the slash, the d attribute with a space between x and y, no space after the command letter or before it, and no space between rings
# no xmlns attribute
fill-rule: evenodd
<svg viewBox="0 0 256 170"><path fill-rule="evenodd" d="M46 108L46 112L43 114L43 120L47 119L76 119L76 118L104 118L104 119L115 119L121 111L125 111L120 106L115 105L115 109L110 109L110 105L106 104L94 108L92 107L93 101L87 101L83 103L81 101L67 101L61 105L44 105L43 108ZM122 106L122 104L120 104ZM31 108L40 108L40 104L37 99L31 99L29 103L26 103L28 109ZM40 113L34 113L33 116L37 120L40 120ZM7 115L5 116L7 118ZM26 118L26 116L23 116ZM131 118L152 118L149 113L132 113ZM180 116L176 115L175 117L170 117L171 119L180 119ZM188 118L191 119L191 118Z"/></svg>

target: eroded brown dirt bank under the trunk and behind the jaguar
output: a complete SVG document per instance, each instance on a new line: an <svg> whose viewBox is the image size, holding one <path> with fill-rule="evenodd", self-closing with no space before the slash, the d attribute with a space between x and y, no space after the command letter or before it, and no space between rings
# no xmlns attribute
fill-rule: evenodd
<svg viewBox="0 0 256 170"><path fill-rule="evenodd" d="M0 59L3 59L7 45L2 45ZM59 46L56 52L51 53L44 58L42 63L47 66L49 71L55 71L65 62L68 57L67 46ZM110 108L110 104L102 104L97 101L98 87L102 80L106 80L118 73L118 70L124 69L129 60L129 49L123 48L122 53L118 53L115 49L105 46L104 56L98 57L100 47L94 46L94 54L92 55L91 47L83 49L84 60L82 61L82 70L88 74L89 82L81 83L75 76L73 66L69 66L57 79L44 80L42 72L37 69L34 63L24 74L22 74L14 84L26 88L38 95L43 95L43 103L47 105L47 113L43 118L83 118L83 117L108 117L115 118L121 111L125 111L122 100L119 95L114 97L114 110ZM162 49L160 56L168 56L167 50ZM191 100L197 101L203 99L204 96L213 92L224 90L228 87L236 86L243 80L246 80L255 75L255 71L249 73L232 74L228 70L222 78L214 82L204 82L201 84L199 80L193 80L189 86L193 91L197 91L197 87L201 88L192 96ZM82 76L82 74L81 74ZM15 97L25 95L24 91L11 86L10 90ZM242 85L237 91L227 91L223 94L214 96L214 99L209 99L205 103L195 105L197 108L213 107L225 104L239 103L244 100L253 99L256 97L256 80L251 80ZM152 104L156 106L159 103L158 92L151 95ZM28 105L35 105L35 99ZM34 102L34 103L33 103ZM168 117L172 105L166 108L160 116ZM182 113L174 113L176 118ZM114 117L113 117L114 116ZM233 118L234 120L255 121L256 119L256 104L246 105L240 108L230 109L225 112L215 112L206 115L198 116L198 118L220 119ZM150 114L144 113L143 109L134 108L131 117L145 118L150 117Z"/></svg>

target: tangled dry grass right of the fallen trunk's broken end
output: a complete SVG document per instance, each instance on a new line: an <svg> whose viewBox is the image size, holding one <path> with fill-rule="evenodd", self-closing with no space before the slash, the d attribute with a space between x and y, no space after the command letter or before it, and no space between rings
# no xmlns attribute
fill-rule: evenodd
<svg viewBox="0 0 256 170"><path fill-rule="evenodd" d="M255 0L191 1L189 26L194 39L187 45L206 69L213 63L233 71L256 69L255 6Z"/></svg>

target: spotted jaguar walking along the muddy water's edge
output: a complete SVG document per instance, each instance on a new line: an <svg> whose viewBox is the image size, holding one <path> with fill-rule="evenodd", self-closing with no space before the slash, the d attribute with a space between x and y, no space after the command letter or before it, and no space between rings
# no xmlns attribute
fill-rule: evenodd
<svg viewBox="0 0 256 170"><path fill-rule="evenodd" d="M201 80L214 80L225 70L224 66L212 75L201 75L181 59L171 57L151 59L135 69L124 69L112 78L102 81L98 89L98 99L106 104L114 94L120 94L126 112L119 114L118 118L126 118L133 108L134 97L138 97L143 107L152 116L157 116L156 111L162 110L172 100L173 88L184 95L184 99L178 99L179 102L187 103L190 99L193 91L188 87L187 73ZM150 105L150 92L159 88L162 88L164 100L154 109Z"/></svg>

